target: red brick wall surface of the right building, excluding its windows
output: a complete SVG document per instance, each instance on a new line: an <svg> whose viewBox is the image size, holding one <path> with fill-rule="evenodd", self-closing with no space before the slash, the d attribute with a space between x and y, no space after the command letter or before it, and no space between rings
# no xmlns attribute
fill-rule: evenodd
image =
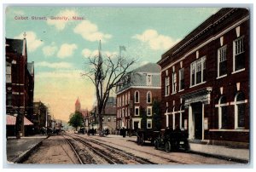
<svg viewBox="0 0 256 172"><path fill-rule="evenodd" d="M237 12L237 11L236 11ZM218 35L218 33L223 32L223 29L228 28L237 20L241 19L241 16L244 15L244 11L242 11L242 14L239 14L240 12L237 12L238 14L234 14L233 17L231 17L229 20L224 20L222 23L218 24L219 26L215 26L214 29L212 29L210 32L206 33L204 36L199 37L195 40L194 43L191 43L187 48L183 49L178 54L175 54L167 60L164 64L160 64L162 69L166 66L172 64L175 60L178 60L179 58L183 57L184 54L189 53L192 49L195 49L195 47L201 45L202 43L205 43L208 39L210 39L214 35ZM217 37L215 40L213 40L210 43L207 43L205 46L198 49L199 52L199 58L206 55L207 61L207 79L206 83L203 83L201 85L197 85L195 87L190 87L190 64L191 62L196 60L196 52L193 52L192 54L189 54L184 60L183 60L183 67L184 67L184 81L185 81L185 87L182 92L177 92L176 94L172 95L172 66L168 68L168 76L170 77L170 95L165 95L165 78L166 78L166 71L161 72L161 108L162 108L162 118L164 120L162 128L166 128L166 116L164 115L164 112L166 112L166 102L169 104L169 109L172 109L173 106L173 100L175 100L175 107L179 107L181 105L180 103L180 97L182 95L188 94L189 92L193 92L199 89L203 89L206 87L212 87L212 93L211 93L211 104L205 105L205 118L208 118L208 127L209 129L218 129L218 108L215 107L215 104L218 104L218 100L220 97L220 91L219 88L223 87L224 91L223 94L227 98L227 102L233 102L235 100L235 96L237 93L236 90L236 83L240 83L240 90L244 93L246 96L245 99L248 100L246 104L246 117L245 117L245 129L249 129L249 21L246 20L245 22L241 23L239 25L241 27L241 36L244 36L244 43L245 43L245 71L237 72L232 74L233 72L233 41L236 39L236 27L231 29L229 32L224 33L223 35L219 35L219 37L224 37L224 45L227 44L227 77L218 78L218 49L220 46L220 40L219 37ZM172 50L173 52L173 50ZM167 54L167 53L166 53ZM176 63L175 65L175 72L177 73L177 91L179 88L178 78L179 73L178 70L180 69L180 63ZM229 109L229 129L234 129L235 126L235 118L234 118L234 105L230 105L228 107ZM185 117L188 119L189 117L189 111L188 109L185 109ZM242 136L241 136L242 135ZM205 139L207 140L232 140L232 141L249 141L248 140L248 132L247 131L205 131Z"/></svg>

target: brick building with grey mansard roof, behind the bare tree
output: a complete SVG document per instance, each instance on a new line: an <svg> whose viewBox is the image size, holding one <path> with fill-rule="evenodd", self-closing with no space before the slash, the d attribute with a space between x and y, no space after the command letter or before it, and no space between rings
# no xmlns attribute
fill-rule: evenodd
<svg viewBox="0 0 256 172"><path fill-rule="evenodd" d="M142 129L143 114L146 128L152 129L152 105L160 100L160 66L148 63L128 73L116 90L117 129Z"/></svg>

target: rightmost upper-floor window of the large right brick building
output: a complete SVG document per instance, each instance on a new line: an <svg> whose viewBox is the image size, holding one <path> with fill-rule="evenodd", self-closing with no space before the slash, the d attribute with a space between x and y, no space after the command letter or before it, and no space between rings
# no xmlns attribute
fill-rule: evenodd
<svg viewBox="0 0 256 172"><path fill-rule="evenodd" d="M244 54L244 37L239 37L233 43L234 56L233 56L233 71L239 71L245 68L245 54Z"/></svg>

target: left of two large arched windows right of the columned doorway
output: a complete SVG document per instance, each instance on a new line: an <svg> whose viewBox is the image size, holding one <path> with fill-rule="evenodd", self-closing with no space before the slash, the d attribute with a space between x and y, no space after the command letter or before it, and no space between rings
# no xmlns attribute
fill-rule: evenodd
<svg viewBox="0 0 256 172"><path fill-rule="evenodd" d="M227 129L228 127L228 103L223 95L218 100L218 129Z"/></svg>

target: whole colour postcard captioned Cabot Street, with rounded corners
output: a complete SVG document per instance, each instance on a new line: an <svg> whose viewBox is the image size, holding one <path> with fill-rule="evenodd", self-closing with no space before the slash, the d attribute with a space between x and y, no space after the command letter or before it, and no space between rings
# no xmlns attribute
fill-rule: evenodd
<svg viewBox="0 0 256 172"><path fill-rule="evenodd" d="M7 163L250 164L249 7L4 10Z"/></svg>

